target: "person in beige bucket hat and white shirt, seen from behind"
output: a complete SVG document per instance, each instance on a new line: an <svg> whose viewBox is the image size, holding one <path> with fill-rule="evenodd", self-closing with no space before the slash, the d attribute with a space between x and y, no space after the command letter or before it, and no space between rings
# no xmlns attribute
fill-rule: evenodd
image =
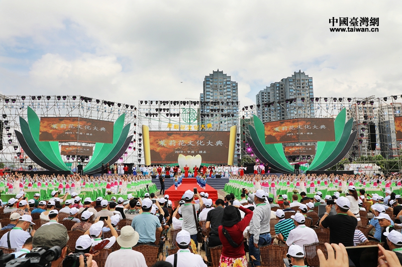
<svg viewBox="0 0 402 267"><path fill-rule="evenodd" d="M138 232L131 226L124 226L117 237L121 248L109 254L105 267L147 267L144 255L132 249L138 243L139 238Z"/></svg>

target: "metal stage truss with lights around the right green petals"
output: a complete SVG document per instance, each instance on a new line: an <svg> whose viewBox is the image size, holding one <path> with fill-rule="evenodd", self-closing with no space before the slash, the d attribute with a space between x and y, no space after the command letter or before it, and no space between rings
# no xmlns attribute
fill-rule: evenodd
<svg viewBox="0 0 402 267"><path fill-rule="evenodd" d="M252 149L244 141L250 134L248 124L253 123L253 115L263 118L263 122L273 121L273 115L282 115L284 119L309 117L314 109L316 118L335 118L338 113L346 108L346 118L353 118L352 131L357 130L356 140L347 156L331 170L344 170L344 164L348 163L376 163L383 172L397 172L402 169L402 142L396 140L394 117L402 116L402 96L388 96L377 98L292 98L285 101L264 103L243 107L240 111L240 136L241 136L241 161L251 163L259 161ZM293 115L294 114L294 115ZM370 150L370 125L375 125L375 149ZM372 127L374 126L372 125ZM300 145L316 145L317 143L299 143ZM284 144L295 145L294 143ZM314 155L298 155L288 157L291 164L311 163Z"/></svg>

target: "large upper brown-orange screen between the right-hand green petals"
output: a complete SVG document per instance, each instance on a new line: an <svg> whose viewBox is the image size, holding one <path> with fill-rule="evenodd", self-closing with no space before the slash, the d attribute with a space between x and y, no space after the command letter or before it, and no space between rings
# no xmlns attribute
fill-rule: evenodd
<svg viewBox="0 0 402 267"><path fill-rule="evenodd" d="M333 118L300 118L265 122L265 144L335 141Z"/></svg>

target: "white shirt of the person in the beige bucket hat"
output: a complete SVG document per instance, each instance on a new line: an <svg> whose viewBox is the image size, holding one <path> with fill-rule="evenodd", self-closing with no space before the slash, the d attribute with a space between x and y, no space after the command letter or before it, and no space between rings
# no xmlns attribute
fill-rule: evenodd
<svg viewBox="0 0 402 267"><path fill-rule="evenodd" d="M147 267L142 253L133 249L119 249L109 254L105 267Z"/></svg>

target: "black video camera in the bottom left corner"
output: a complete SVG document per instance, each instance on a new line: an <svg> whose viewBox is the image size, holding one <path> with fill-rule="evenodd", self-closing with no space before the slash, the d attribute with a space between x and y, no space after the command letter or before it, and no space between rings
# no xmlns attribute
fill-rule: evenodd
<svg viewBox="0 0 402 267"><path fill-rule="evenodd" d="M14 258L12 254L4 254L0 250L0 266L1 267L50 267L52 261L61 256L61 248L59 246L35 247L30 253L25 255L25 258Z"/></svg>

